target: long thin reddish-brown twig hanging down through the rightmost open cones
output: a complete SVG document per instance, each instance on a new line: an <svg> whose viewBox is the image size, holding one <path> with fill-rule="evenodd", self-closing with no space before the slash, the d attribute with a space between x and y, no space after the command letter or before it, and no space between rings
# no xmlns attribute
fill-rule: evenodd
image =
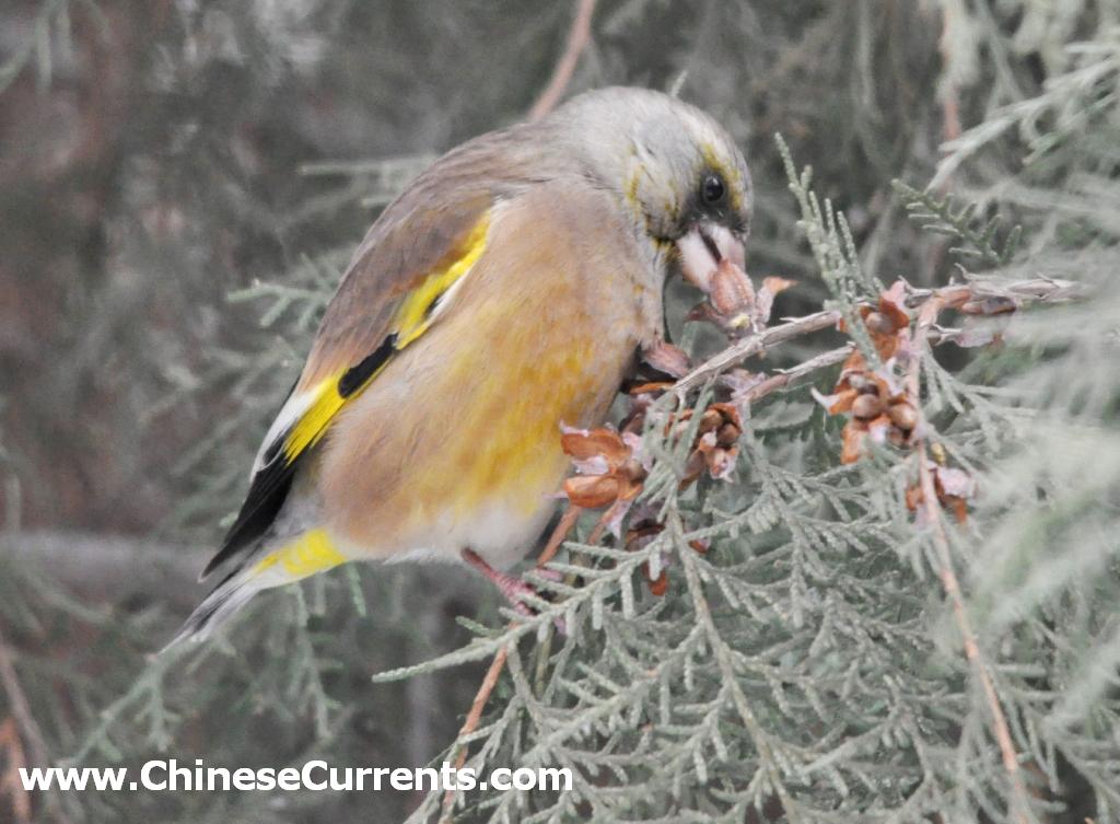
<svg viewBox="0 0 1120 824"><path fill-rule="evenodd" d="M952 288L952 287L950 287ZM959 299L959 294L953 294L949 299ZM946 306L946 297L934 294L923 305L917 316L915 331L917 337L925 336L937 320L937 314ZM906 388L912 398L917 400L921 389L922 359L914 355L906 371ZM921 430L921 429L920 429ZM916 442L915 457L918 462L918 481L922 488L922 506L925 509L926 520L933 528L933 543L937 550L937 565L941 567L939 574L941 584L945 590L945 596L953 608L953 620L956 629L964 640L964 657L976 674L980 686L983 689L988 709L991 712L992 731L999 744L999 751L1004 759L1004 769L1007 771L1008 780L1011 784L1014 796L1012 811L1017 821L1025 824L1026 815L1026 787L1023 784L1023 776L1019 772L1019 758L1011 740L1011 731L1007 725L1007 716L1004 714L1002 704L996 693L996 687L991 683L988 674L988 666L980 654L980 646L977 644L977 636L972 629L964 608L964 598L961 594L960 581L953 570L952 553L949 547L949 537L945 535L945 527L941 520L941 508L937 502L937 490L933 480L933 472L930 471L928 456L926 454L926 438L920 437Z"/></svg>

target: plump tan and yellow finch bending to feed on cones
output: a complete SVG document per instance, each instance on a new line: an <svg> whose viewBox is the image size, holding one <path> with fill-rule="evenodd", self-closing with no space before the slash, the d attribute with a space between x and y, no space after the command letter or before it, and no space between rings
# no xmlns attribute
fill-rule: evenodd
<svg viewBox="0 0 1120 824"><path fill-rule="evenodd" d="M744 154L675 96L605 87L448 151L386 206L328 303L171 644L351 561L508 572L553 517L561 427L598 426L663 291L743 265Z"/></svg>

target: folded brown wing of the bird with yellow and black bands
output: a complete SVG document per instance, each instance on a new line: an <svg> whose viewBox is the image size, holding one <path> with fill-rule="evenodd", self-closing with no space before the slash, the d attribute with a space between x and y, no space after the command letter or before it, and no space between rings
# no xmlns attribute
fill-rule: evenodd
<svg viewBox="0 0 1120 824"><path fill-rule="evenodd" d="M203 577L272 524L301 460L335 415L436 320L486 243L495 203L529 182L517 136L466 143L421 175L374 223L319 325L304 371L269 429L249 493Z"/></svg>

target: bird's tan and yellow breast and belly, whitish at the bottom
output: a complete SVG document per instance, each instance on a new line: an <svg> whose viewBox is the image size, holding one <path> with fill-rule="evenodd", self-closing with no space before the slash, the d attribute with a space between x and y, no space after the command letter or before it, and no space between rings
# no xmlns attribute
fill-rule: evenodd
<svg viewBox="0 0 1120 824"><path fill-rule="evenodd" d="M497 221L501 226L501 221ZM561 424L607 414L650 318L635 259L598 251L589 220L562 243L510 232L454 311L399 355L328 435L332 531L373 556L524 553L569 461Z"/></svg>

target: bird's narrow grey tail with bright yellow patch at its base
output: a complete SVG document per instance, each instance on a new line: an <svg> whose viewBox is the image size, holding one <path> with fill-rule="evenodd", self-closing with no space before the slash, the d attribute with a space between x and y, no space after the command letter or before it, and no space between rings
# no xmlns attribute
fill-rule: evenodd
<svg viewBox="0 0 1120 824"><path fill-rule="evenodd" d="M183 641L205 640L261 590L299 581L346 559L321 528L310 529L290 543L246 558L195 608L164 649Z"/></svg>

